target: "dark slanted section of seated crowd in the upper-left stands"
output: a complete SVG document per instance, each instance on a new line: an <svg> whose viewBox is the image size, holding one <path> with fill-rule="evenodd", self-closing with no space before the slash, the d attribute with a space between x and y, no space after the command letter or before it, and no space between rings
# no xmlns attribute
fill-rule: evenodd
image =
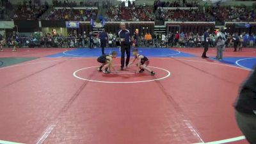
<svg viewBox="0 0 256 144"><path fill-rule="evenodd" d="M23 4L19 4L17 10L15 10L14 20L36 20L49 8L48 5L40 6L40 4L33 3L29 0L24 1Z"/></svg>

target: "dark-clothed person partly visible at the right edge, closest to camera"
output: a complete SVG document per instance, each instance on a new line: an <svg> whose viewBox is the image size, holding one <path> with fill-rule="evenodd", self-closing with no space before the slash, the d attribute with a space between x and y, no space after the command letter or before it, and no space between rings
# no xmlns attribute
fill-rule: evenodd
<svg viewBox="0 0 256 144"><path fill-rule="evenodd" d="M256 144L256 67L242 84L234 107L239 129L250 144Z"/></svg>

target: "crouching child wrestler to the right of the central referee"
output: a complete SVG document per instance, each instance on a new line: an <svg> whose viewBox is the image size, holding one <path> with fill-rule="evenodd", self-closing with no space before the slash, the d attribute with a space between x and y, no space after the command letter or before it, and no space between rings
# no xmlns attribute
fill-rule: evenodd
<svg viewBox="0 0 256 144"><path fill-rule="evenodd" d="M136 71L137 74L144 72L144 70L147 70L148 72L150 72L152 76L156 74L155 72L150 70L150 68L148 68L148 64L149 64L148 58L146 56L139 54L138 49L133 49L132 55L135 57L134 57L134 60L131 63L129 63L129 65L132 65L134 61L138 60L138 63L136 64L138 67L138 70Z"/></svg>

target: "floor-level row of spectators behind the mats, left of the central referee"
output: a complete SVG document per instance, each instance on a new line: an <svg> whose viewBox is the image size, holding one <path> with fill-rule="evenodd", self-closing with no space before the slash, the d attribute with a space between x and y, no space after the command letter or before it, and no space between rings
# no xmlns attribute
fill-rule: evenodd
<svg viewBox="0 0 256 144"><path fill-rule="evenodd" d="M109 43L111 47L116 46L116 34L108 33ZM63 36L61 33L42 33L36 31L30 36L22 35L13 31L7 35L1 35L0 38L6 40L4 47L12 47L16 41L19 47L100 47L99 33L77 33L76 30L68 33L68 36Z"/></svg>

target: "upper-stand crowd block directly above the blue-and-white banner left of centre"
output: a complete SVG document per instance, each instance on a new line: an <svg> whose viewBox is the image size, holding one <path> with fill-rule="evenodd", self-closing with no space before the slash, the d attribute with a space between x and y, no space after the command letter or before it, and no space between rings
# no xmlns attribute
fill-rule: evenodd
<svg viewBox="0 0 256 144"><path fill-rule="evenodd" d="M76 21L90 21L90 19L95 19L97 16L97 10L85 9L85 10L75 10L75 9L54 9L51 10L49 15L45 18L46 20L76 20Z"/></svg>

